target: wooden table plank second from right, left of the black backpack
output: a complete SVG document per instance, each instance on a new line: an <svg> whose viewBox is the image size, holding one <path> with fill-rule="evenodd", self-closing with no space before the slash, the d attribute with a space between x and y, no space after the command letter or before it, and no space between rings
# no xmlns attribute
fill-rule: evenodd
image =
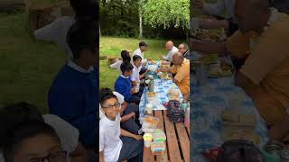
<svg viewBox="0 0 289 162"><path fill-rule="evenodd" d="M164 118L164 126L165 126L165 133L167 138L168 144L168 152L169 152L169 159L173 162L181 162L181 154L180 149L178 147L178 140L175 134L174 126L169 118L166 116L167 112L163 111L163 118Z"/></svg>

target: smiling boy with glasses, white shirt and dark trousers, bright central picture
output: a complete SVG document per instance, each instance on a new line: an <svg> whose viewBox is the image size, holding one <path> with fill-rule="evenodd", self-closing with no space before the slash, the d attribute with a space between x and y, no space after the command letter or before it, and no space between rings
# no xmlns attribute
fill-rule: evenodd
<svg viewBox="0 0 289 162"><path fill-rule="evenodd" d="M105 116L99 121L99 161L142 162L143 137L120 128L120 103L117 96L107 90L102 90L100 94L101 110Z"/></svg>

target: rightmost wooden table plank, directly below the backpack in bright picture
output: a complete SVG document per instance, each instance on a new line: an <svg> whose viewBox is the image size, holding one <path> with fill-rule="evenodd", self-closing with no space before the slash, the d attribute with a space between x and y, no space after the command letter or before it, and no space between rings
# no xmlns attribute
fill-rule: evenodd
<svg viewBox="0 0 289 162"><path fill-rule="evenodd" d="M190 139L183 123L176 123L176 129L181 143L182 156L185 162L190 162Z"/></svg>

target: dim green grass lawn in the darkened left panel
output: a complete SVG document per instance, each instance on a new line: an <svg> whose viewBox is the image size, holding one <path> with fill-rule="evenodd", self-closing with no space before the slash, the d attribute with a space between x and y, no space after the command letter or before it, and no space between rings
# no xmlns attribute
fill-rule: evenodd
<svg viewBox="0 0 289 162"><path fill-rule="evenodd" d="M26 101L47 112L47 92L66 54L33 40L25 14L0 14L0 105Z"/></svg>

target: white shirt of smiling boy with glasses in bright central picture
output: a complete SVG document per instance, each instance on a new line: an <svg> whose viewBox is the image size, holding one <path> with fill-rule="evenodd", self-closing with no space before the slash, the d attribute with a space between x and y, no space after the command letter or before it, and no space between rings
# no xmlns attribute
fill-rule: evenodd
<svg viewBox="0 0 289 162"><path fill-rule="evenodd" d="M106 162L117 162L123 142L120 139L120 114L116 121L104 116L99 121L99 152L103 151Z"/></svg>

